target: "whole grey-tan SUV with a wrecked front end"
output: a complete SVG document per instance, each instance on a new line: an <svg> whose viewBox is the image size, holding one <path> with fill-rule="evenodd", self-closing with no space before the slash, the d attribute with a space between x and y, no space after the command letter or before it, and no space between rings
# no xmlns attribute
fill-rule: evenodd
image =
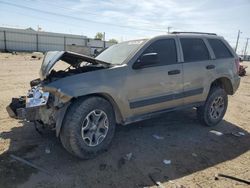
<svg viewBox="0 0 250 188"><path fill-rule="evenodd" d="M55 70L61 61L68 68ZM55 129L70 153L87 159L108 148L117 124L186 107L197 108L202 124L218 124L239 86L238 69L230 45L208 33L122 42L96 58L47 52L40 78L7 111Z"/></svg>

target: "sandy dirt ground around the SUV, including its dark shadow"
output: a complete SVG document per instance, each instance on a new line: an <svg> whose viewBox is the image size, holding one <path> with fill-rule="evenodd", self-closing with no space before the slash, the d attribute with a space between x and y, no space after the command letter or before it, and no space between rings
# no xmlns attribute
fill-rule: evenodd
<svg viewBox="0 0 250 188"><path fill-rule="evenodd" d="M25 94L29 81L38 77L41 61L30 54L0 53L0 187L247 187L222 177L216 180L215 175L250 181L250 69L229 97L218 126L201 126L195 110L167 113L118 126L111 148L83 161L63 149L55 132L44 130L41 135L32 123L11 119L5 111L11 97ZM232 134L239 131L245 135ZM132 158L127 160L129 153Z"/></svg>

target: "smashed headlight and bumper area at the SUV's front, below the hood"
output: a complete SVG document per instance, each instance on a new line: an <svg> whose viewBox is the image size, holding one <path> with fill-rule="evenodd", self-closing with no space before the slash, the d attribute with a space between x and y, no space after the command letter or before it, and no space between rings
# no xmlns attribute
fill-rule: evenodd
<svg viewBox="0 0 250 188"><path fill-rule="evenodd" d="M12 98L6 110L12 118L39 121L53 128L57 116L65 104L65 100L59 99L51 92L44 91L44 88L33 86L28 91L27 96Z"/></svg>

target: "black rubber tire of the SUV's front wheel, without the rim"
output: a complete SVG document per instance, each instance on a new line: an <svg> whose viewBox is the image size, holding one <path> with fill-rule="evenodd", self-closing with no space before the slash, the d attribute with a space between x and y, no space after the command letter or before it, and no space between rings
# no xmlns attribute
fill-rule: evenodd
<svg viewBox="0 0 250 188"><path fill-rule="evenodd" d="M88 146L82 138L82 122L93 110L105 112L108 121L106 137L96 146ZM60 132L64 148L82 159L90 159L105 151L115 133L115 115L111 104L101 97L81 98L74 101L67 110Z"/></svg>

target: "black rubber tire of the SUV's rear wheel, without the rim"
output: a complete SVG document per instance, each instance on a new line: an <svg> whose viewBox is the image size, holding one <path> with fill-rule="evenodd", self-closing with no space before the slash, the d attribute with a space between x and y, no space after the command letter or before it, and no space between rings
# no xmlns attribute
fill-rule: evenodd
<svg viewBox="0 0 250 188"><path fill-rule="evenodd" d="M218 97L223 98L224 109L221 110L220 115L218 115L218 118L215 119L212 117L210 113L210 108L213 104L213 101ZM215 126L223 119L227 110L227 105L228 105L228 97L225 90L220 87L213 87L211 88L208 94L205 104L197 108L197 117L203 125L209 127Z"/></svg>

